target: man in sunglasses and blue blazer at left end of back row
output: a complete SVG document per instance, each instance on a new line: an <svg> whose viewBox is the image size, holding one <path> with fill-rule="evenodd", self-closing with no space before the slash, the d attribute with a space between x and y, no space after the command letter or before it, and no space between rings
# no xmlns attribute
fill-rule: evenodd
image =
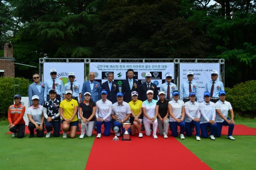
<svg viewBox="0 0 256 170"><path fill-rule="evenodd" d="M39 96L39 105L44 105L44 83L40 81L40 76L38 73L33 75L34 83L28 87L28 97L30 106L32 105L32 96Z"/></svg>

